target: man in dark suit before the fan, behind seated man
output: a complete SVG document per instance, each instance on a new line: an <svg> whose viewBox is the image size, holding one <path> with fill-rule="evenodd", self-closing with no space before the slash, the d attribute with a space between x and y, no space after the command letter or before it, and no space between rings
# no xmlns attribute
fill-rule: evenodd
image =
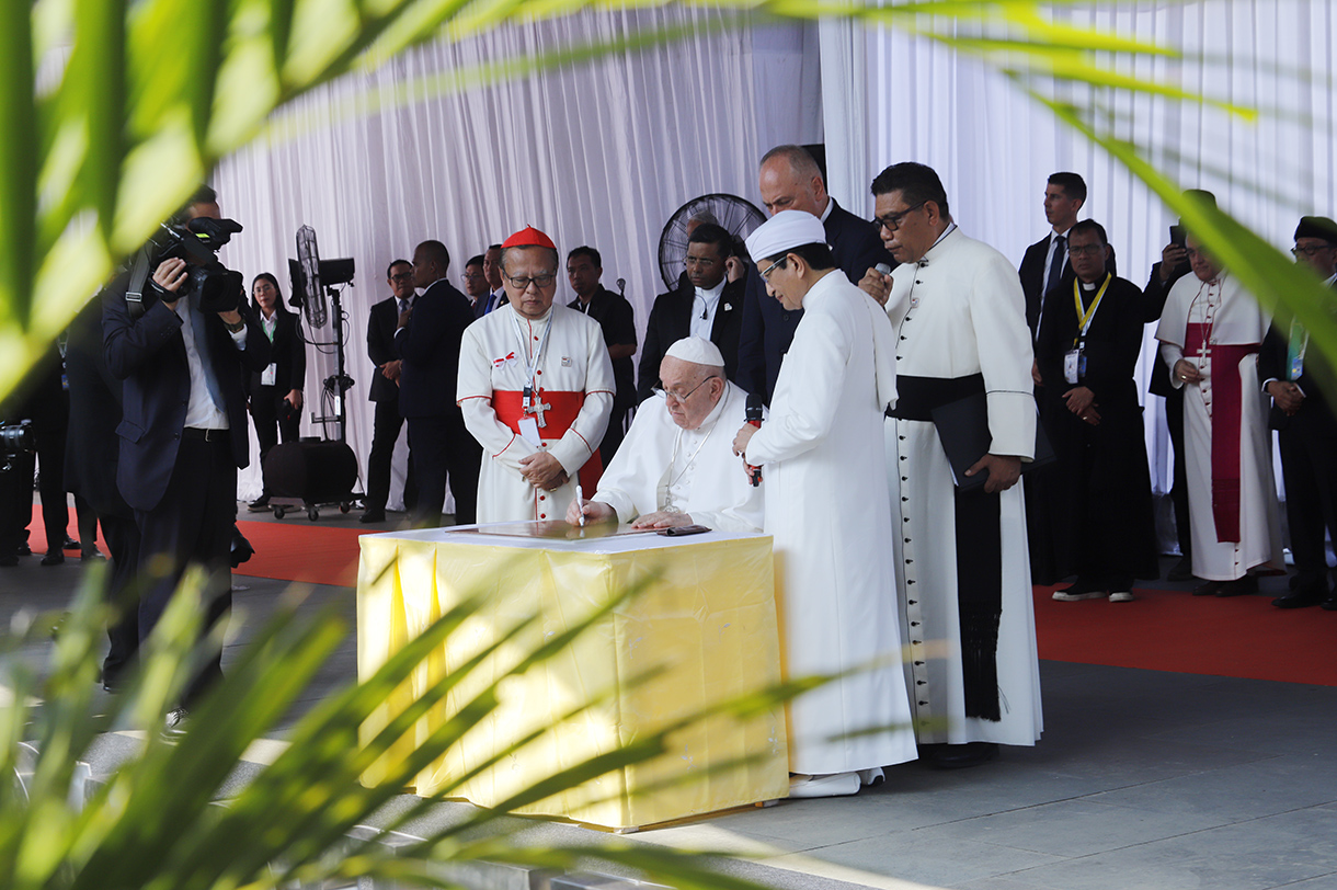
<svg viewBox="0 0 1337 890"><path fill-rule="evenodd" d="M655 297L650 307L646 347L640 353L638 404L650 398L659 385L664 353L683 337L705 337L718 346L725 357L725 377L737 381L746 279L726 281L726 265L733 255L734 239L722 226L701 223L687 237L686 275L678 281L678 287Z"/></svg>

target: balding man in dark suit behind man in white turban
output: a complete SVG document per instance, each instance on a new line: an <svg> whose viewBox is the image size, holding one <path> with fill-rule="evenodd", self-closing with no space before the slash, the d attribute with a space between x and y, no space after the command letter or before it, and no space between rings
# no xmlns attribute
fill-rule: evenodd
<svg viewBox="0 0 1337 890"><path fill-rule="evenodd" d="M766 212L804 210L821 219L836 266L873 297L878 297L874 291L880 290L885 302L890 279L876 267L884 263L890 270L896 261L886 253L873 223L844 210L826 194L821 168L806 148L777 146L767 151L761 159L758 184ZM749 269L734 382L749 393L761 393L767 405L779 377L779 363L802 317L802 309L785 309L778 299L767 297L766 283L755 269Z"/></svg>

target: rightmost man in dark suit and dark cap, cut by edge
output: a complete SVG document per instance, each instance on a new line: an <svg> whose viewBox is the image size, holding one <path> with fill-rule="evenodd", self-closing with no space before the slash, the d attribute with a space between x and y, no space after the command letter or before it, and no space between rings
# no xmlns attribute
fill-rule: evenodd
<svg viewBox="0 0 1337 890"><path fill-rule="evenodd" d="M1337 286L1337 222L1305 216L1296 229L1296 259ZM1337 314L1337 295L1328 310ZM1271 396L1271 426L1278 430L1281 476L1286 482L1286 524L1296 575L1290 593L1271 601L1284 609L1322 605L1337 609L1337 595L1328 584L1326 529L1337 541L1337 417L1318 389L1320 378L1332 381L1332 369L1314 373L1324 362L1309 347L1309 331L1298 323L1285 329L1273 323L1258 351L1258 378Z"/></svg>

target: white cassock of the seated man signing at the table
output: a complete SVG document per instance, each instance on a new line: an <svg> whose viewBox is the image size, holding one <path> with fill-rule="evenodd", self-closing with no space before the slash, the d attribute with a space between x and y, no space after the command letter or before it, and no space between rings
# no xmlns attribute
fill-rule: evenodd
<svg viewBox="0 0 1337 890"><path fill-rule="evenodd" d="M734 433L747 421L747 393L729 381L697 429L673 421L656 393L636 409L627 437L599 480L592 500L607 504L619 523L671 502L698 525L721 532L759 532L762 490L734 454Z"/></svg>

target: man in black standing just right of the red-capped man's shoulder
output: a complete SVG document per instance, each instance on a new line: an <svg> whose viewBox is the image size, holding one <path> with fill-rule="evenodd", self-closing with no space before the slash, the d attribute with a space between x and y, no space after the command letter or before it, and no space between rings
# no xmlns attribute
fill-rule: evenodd
<svg viewBox="0 0 1337 890"><path fill-rule="evenodd" d="M602 277L603 257L594 247L584 245L567 254L567 282L576 294L567 307L599 322L603 345L608 347L608 358L612 359L612 380L616 385L612 416L608 417L608 430L599 442L599 460L607 466L626 436L622 425L627 412L636 406L636 370L631 363L631 357L636 354L636 315L626 297L599 283Z"/></svg>

